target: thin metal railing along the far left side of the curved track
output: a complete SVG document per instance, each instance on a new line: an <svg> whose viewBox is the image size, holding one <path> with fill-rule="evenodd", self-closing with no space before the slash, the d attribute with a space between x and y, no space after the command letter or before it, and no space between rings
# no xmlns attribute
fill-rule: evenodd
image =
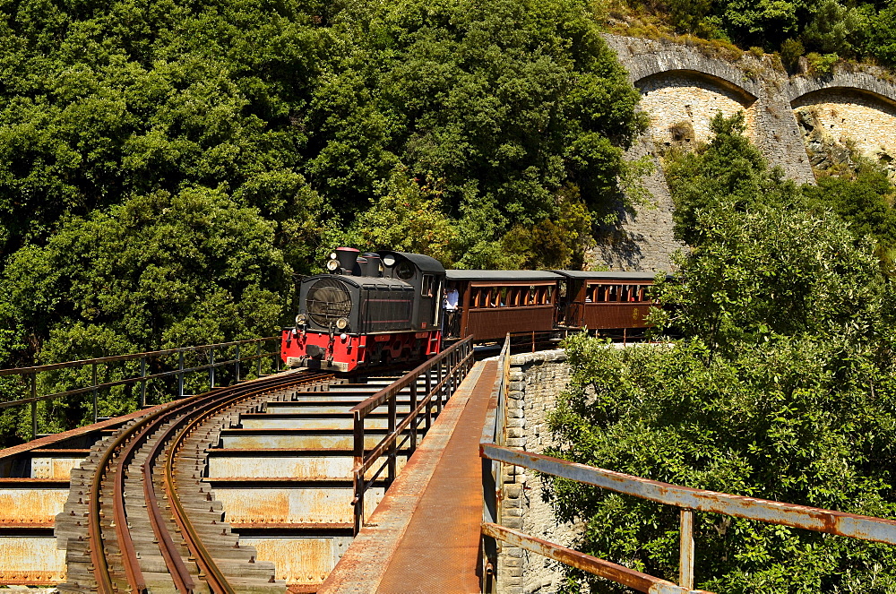
<svg viewBox="0 0 896 594"><path fill-rule="evenodd" d="M274 343L274 349L269 350L268 346ZM16 367L14 369L0 369L0 377L20 377L25 384L25 389L30 392L30 397L17 400L6 400L0 402L0 410L9 409L17 406L30 404L31 412L31 438L38 436L38 402L45 400L58 400L66 396L84 394L90 392L92 394L93 422L97 422L99 418L98 395L101 390L108 390L116 386L125 386L139 383L140 392L137 398L137 406L146 406L146 387L147 383L162 378L177 378L177 398L184 397L184 378L186 374L193 374L201 371L207 371L209 374L210 389L215 387L217 373L221 367L233 366L233 377L239 382L241 379L242 365L246 362L257 362L257 374L262 374L262 361L264 358L271 357L274 361L273 366L276 370L280 370L280 344L279 336L271 336L261 339L236 340L233 342L220 342L217 344L202 345L198 347L185 347L181 349L155 350L145 353L134 353L132 355L118 355L114 357L98 357L92 359L82 359L80 361L68 361L65 363L52 363L41 366ZM223 360L216 360L216 353L220 353L225 349L233 349L232 357ZM254 350L254 352L253 352ZM201 354L202 359L208 363L201 365L185 366L185 356L190 353ZM165 357L177 355L177 366L174 364L162 363ZM99 382L99 366L104 366L104 371L109 371L110 364L139 361L140 374L134 374L130 377L122 377L110 381ZM148 373L152 363L156 367L162 369L155 373ZM90 368L90 380L88 385L82 385L72 390L64 390L61 392L51 392L47 394L38 393L38 375L59 371L62 369L82 369ZM168 367L168 369L166 369Z"/></svg>

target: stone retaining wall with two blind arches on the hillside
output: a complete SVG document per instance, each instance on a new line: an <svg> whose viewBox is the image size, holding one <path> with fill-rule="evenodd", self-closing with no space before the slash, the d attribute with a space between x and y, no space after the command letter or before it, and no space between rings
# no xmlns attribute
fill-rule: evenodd
<svg viewBox="0 0 896 594"><path fill-rule="evenodd" d="M814 153L810 147L807 154L806 143L814 137L804 134L795 116L795 110L809 107L835 141L849 140L896 177L896 84L888 73L841 66L823 77L788 76L771 56L744 54L731 61L699 46L609 34L604 39L641 90L641 108L650 117L650 130L628 151L630 159L648 155L659 166L658 149L703 142L717 111L729 116L743 109L746 133L771 165L798 183L812 184ZM619 224L601 229L597 245L586 253L590 266L672 271L670 255L683 246L672 235L673 207L661 169L643 185L654 204L637 214L620 210Z"/></svg>

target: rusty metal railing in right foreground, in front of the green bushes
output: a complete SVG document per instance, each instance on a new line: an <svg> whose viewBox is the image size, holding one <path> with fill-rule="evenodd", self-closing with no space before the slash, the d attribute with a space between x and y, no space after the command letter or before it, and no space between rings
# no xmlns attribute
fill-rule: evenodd
<svg viewBox="0 0 896 594"><path fill-rule="evenodd" d="M508 368L509 353L503 351L504 369ZM505 372L506 373L506 372ZM482 535L484 554L489 563L496 563L495 540L521 547L538 555L544 555L563 564L573 565L582 571L616 581L639 592L650 594L711 594L694 590L694 514L695 512L721 513L736 518L764 521L790 528L814 530L848 538L871 540L896 545L896 521L853 513L834 512L806 505L785 504L766 499L754 499L742 495L718 493L687 486L634 477L613 470L560 460L542 454L521 452L500 442L504 428L502 413L508 379L503 376L496 383L498 392L495 409L488 413L487 426L479 443L483 459L483 495L485 498ZM491 423L491 425L490 425ZM488 464L487 464L488 462ZM493 462L499 468L493 469ZM680 512L680 547L678 584L637 572L623 565L611 563L592 555L585 555L568 547L536 538L516 529L501 525L499 497L495 481L500 480L500 464L533 469L546 475L567 478L586 485L598 486L608 491L632 495L659 504L672 505ZM486 471L490 478L486 477ZM497 484L500 486L500 484ZM491 488L486 488L491 487ZM496 512L490 512L495 509ZM484 555L485 556L485 555ZM483 573L483 575L486 575ZM483 590L492 591L492 590Z"/></svg>

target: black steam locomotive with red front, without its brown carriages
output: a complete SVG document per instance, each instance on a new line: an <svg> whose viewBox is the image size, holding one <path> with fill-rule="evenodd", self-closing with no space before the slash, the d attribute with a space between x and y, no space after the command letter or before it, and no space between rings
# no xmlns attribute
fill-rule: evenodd
<svg viewBox="0 0 896 594"><path fill-rule="evenodd" d="M338 248L331 273L302 280L296 326L283 331L287 366L349 372L428 357L441 347L444 268L421 254Z"/></svg>

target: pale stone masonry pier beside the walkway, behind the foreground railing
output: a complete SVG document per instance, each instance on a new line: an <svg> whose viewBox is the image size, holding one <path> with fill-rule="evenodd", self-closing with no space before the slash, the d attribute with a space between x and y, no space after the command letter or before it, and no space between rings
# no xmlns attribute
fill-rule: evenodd
<svg viewBox="0 0 896 594"><path fill-rule="evenodd" d="M526 452L544 452L551 445L547 415L569 382L564 350L526 353L511 358L507 392L507 445ZM570 545L578 530L560 524L542 500L541 478L504 465L502 523L526 534ZM501 548L498 555L499 594L556 592L562 572L546 557L519 547Z"/></svg>

